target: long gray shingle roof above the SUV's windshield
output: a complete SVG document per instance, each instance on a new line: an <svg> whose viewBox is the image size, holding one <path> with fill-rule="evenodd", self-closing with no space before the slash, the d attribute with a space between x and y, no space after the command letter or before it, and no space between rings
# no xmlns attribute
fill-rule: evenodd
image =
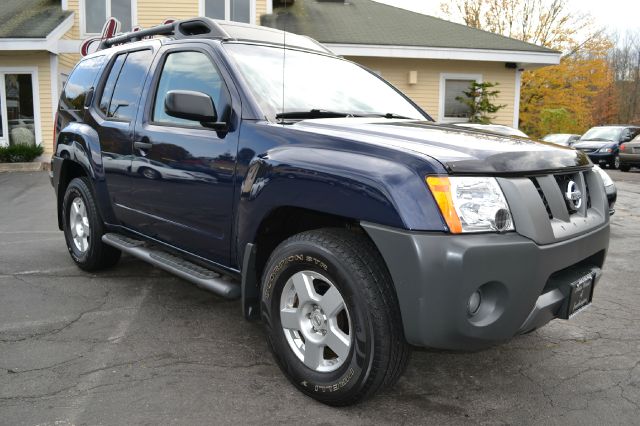
<svg viewBox="0 0 640 426"><path fill-rule="evenodd" d="M295 0L263 15L261 24L321 43L555 52L372 0Z"/></svg>

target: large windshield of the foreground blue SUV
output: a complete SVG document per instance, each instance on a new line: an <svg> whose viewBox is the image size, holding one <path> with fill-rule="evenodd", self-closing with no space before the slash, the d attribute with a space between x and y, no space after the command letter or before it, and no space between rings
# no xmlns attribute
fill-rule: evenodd
<svg viewBox="0 0 640 426"><path fill-rule="evenodd" d="M279 47L226 43L225 48L272 120L311 111L316 118L342 114L426 119L383 80L349 61Z"/></svg>

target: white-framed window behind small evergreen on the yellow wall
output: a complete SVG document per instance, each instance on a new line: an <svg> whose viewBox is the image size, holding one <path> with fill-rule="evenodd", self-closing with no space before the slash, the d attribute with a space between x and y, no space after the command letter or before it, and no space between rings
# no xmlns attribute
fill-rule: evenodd
<svg viewBox="0 0 640 426"><path fill-rule="evenodd" d="M439 121L465 122L469 120L469 106L457 98L464 97L464 92L474 81L481 82L482 76L474 74L441 75Z"/></svg>

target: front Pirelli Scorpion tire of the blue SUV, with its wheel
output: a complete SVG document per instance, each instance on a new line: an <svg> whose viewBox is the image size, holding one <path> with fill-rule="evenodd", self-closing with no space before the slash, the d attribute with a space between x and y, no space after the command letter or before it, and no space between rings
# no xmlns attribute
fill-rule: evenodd
<svg viewBox="0 0 640 426"><path fill-rule="evenodd" d="M303 282L300 278L305 276L306 288L313 288L309 294L316 301L304 303L304 291L302 297L298 293ZM298 285L294 284L296 277ZM344 309L334 321L327 308L332 303L327 300L336 300L336 290ZM316 303L319 315L313 308ZM327 228L297 234L281 243L264 270L261 308L276 362L294 386L322 403L354 404L383 386L395 384L407 366L410 350L395 289L384 260L365 235ZM289 315L285 317L281 310ZM292 317L290 310L297 316ZM293 329L284 329L283 321L291 324L291 318ZM320 325L322 318L326 320L324 326ZM313 331L316 325L318 332ZM336 328L343 332L340 345L335 343L339 335ZM308 348L311 351L317 347L309 346L316 337L331 343L320 351L319 364L309 367L304 362L306 355L301 358L300 352L306 354ZM344 348L345 341L349 342L348 349ZM304 348L296 346L300 343ZM317 364L313 362L316 358L309 356L309 364Z"/></svg>

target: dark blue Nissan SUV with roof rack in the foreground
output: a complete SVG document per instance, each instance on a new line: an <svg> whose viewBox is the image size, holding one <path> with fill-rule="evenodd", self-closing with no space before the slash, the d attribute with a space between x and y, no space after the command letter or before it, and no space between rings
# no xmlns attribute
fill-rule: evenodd
<svg viewBox="0 0 640 426"><path fill-rule="evenodd" d="M609 209L585 154L434 123L284 38L196 18L80 61L51 171L80 268L125 253L240 299L291 383L331 405L392 386L410 345L478 350L591 303Z"/></svg>

